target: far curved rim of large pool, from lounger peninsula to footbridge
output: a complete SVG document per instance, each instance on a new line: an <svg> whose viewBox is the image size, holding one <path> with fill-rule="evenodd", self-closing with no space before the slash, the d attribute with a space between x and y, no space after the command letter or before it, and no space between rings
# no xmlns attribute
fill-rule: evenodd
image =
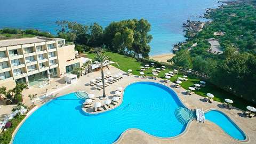
<svg viewBox="0 0 256 144"><path fill-rule="evenodd" d="M84 113L85 115L87 115L87 116L97 116L97 115L104 114L104 113L107 113L107 112L109 112L109 111L111 111L111 110L116 109L117 107L119 107L119 106L123 103L123 98L124 98L124 95L123 95L123 94L124 94L124 91L125 91L126 87L128 87L128 86L130 86L130 85L132 85L132 84L135 84L135 83L154 83L154 84L158 84L158 85L163 85L163 86L165 86L167 89L169 89L169 90L171 90L171 91L174 92L175 96L178 98L179 102L181 103L181 105L182 105L183 107L190 109L188 106L185 105L185 103L182 102L182 100L179 98L179 95L177 94L177 92L175 92L174 90L172 90L171 87L166 86L166 85L164 85L164 84L162 84L162 83L159 83L159 82L140 81L140 82L134 82L134 83L130 83L130 84L125 85L124 90L123 90L123 92L122 92L122 95L121 95L121 97L120 97L121 100L120 100L120 102L118 103L118 105L116 105L115 107L110 108L110 109L107 109L107 110L103 110L103 111L98 111L97 113L88 113L88 112L84 111L84 110L82 109L82 107L81 107L83 113ZM83 91L78 91L78 92L83 92Z"/></svg>

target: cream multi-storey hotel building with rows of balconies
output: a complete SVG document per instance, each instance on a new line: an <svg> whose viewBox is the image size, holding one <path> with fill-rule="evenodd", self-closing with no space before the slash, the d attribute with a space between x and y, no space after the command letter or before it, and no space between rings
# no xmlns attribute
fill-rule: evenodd
<svg viewBox="0 0 256 144"><path fill-rule="evenodd" d="M31 37L0 41L0 86L7 89L16 83L29 86L62 77L81 67L83 58L76 56L74 44L65 39Z"/></svg>

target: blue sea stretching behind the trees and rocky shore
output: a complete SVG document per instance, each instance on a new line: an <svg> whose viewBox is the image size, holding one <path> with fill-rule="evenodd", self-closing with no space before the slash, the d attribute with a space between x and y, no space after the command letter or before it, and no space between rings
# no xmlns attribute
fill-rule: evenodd
<svg viewBox="0 0 256 144"><path fill-rule="evenodd" d="M55 34L55 21L98 22L145 18L151 23L150 55L172 52L175 43L185 40L182 23L199 18L219 0L1 0L0 28L36 28Z"/></svg>

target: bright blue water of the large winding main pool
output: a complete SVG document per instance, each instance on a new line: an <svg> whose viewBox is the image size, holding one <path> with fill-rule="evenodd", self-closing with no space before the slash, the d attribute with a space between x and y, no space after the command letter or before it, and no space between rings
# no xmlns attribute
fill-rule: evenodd
<svg viewBox="0 0 256 144"><path fill-rule="evenodd" d="M156 137L174 137L190 120L189 110L177 95L157 83L127 86L123 103L100 115L84 114L83 102L70 93L46 103L21 125L13 143L112 143L130 128Z"/></svg>

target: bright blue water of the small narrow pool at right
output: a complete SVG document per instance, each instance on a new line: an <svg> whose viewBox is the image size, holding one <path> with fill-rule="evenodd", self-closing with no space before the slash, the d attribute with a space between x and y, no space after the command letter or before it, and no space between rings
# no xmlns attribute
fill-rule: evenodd
<svg viewBox="0 0 256 144"><path fill-rule="evenodd" d="M238 140L245 140L246 136L229 117L218 110L210 110L205 113L205 118L219 125L223 131Z"/></svg>

